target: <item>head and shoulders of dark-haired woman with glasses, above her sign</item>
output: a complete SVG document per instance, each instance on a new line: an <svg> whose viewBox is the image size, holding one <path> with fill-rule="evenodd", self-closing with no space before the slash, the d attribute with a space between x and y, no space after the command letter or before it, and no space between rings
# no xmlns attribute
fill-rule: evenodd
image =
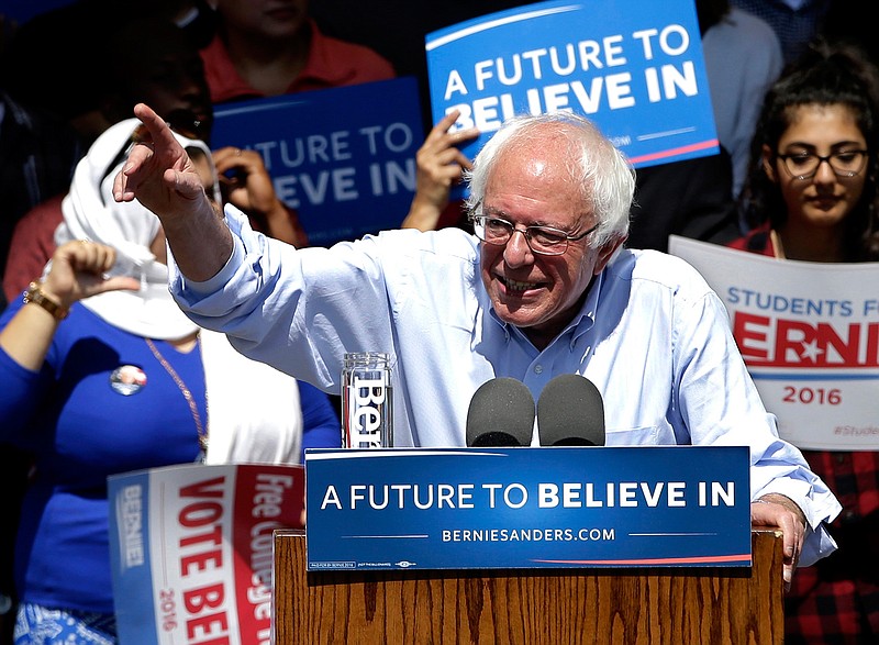
<svg viewBox="0 0 879 645"><path fill-rule="evenodd" d="M766 96L741 198L753 230L731 246L879 260L877 143L879 70L854 45L813 44Z"/></svg>

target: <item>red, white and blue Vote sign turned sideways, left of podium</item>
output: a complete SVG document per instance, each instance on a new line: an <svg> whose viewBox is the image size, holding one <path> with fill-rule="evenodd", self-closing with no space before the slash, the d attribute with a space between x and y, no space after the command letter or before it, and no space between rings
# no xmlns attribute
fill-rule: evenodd
<svg viewBox="0 0 879 645"><path fill-rule="evenodd" d="M124 645L268 645L276 529L303 529L302 466L185 465L110 477Z"/></svg>

